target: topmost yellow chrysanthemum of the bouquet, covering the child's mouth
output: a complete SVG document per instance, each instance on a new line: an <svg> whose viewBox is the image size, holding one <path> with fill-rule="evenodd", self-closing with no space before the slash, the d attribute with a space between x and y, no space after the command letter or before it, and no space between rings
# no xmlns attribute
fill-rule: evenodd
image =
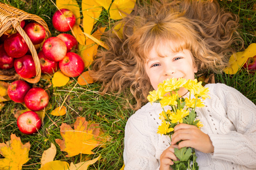
<svg viewBox="0 0 256 170"><path fill-rule="evenodd" d="M179 78L179 79L172 78L172 79L164 80L163 84L164 84L165 91L171 92L171 91L175 91L176 89L179 89L186 82L187 80L183 78Z"/></svg>

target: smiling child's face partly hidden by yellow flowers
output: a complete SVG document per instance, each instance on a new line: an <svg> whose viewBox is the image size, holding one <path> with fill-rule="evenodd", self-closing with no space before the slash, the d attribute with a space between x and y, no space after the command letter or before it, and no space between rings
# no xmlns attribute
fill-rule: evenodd
<svg viewBox="0 0 256 170"><path fill-rule="evenodd" d="M152 48L144 65L154 90L157 90L158 84L167 78L195 79L197 67L193 65L193 56L189 50L172 52L168 45L162 45L159 50L166 57L158 56L155 48ZM184 95L186 92L181 88L178 93Z"/></svg>

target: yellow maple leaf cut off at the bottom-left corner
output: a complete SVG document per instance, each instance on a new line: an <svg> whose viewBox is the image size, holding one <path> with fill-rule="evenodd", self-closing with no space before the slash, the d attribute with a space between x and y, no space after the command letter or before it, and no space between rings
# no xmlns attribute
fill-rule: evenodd
<svg viewBox="0 0 256 170"><path fill-rule="evenodd" d="M20 138L15 134L11 134L11 141L0 143L0 154L5 158L0 159L1 170L19 170L28 160L28 152L30 151L30 142L21 143Z"/></svg>

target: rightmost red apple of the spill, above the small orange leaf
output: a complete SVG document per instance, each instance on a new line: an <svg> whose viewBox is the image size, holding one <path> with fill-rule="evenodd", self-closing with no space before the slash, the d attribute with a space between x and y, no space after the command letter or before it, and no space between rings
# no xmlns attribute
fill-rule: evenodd
<svg viewBox="0 0 256 170"><path fill-rule="evenodd" d="M78 54L69 52L59 62L59 67L63 74L69 77L76 77L84 71L84 61Z"/></svg>

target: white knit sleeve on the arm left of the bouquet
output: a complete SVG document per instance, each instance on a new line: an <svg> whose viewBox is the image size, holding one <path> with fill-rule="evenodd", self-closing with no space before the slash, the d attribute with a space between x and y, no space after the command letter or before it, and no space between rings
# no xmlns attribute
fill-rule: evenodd
<svg viewBox="0 0 256 170"><path fill-rule="evenodd" d="M151 136L146 119L146 117L133 115L126 123L123 152L125 170L159 169L159 163L155 158L156 150L152 142L154 136Z"/></svg>

